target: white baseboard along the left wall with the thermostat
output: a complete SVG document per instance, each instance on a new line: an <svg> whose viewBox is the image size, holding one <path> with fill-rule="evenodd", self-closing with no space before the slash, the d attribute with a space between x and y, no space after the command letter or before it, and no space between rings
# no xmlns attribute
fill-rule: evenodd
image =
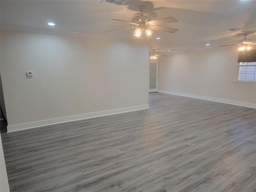
<svg viewBox="0 0 256 192"><path fill-rule="evenodd" d="M48 120L42 120L42 121L36 121L36 122L30 122L30 123L24 123L24 124L10 125L10 126L7 126L7 132L9 133L9 132L14 132L14 131L36 128L36 127L54 125L54 124L59 124L59 123L71 122L71 121L84 120L84 119L89 119L89 118L96 118L96 117L113 115L113 114L126 113L126 112L143 110L143 109L148 109L148 108L149 108L149 106L147 104L147 105L140 105L140 106L134 106L134 107L128 107L128 108L120 108L120 109L114 109L114 110L108 110L108 111L100 111L100 112L88 113L88 114L82 114L82 115L68 116L68 117L62 117L62 118L56 118L56 119L48 119Z"/></svg>

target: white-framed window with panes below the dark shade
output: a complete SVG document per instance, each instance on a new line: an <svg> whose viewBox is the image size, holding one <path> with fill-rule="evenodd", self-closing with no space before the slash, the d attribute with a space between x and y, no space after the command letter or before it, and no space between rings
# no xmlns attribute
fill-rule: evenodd
<svg viewBox="0 0 256 192"><path fill-rule="evenodd" d="M256 62L240 62L236 80L256 82Z"/></svg>

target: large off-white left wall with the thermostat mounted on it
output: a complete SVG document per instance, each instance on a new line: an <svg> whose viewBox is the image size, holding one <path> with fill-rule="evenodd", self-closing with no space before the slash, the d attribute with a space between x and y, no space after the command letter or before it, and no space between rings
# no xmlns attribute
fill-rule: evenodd
<svg viewBox="0 0 256 192"><path fill-rule="evenodd" d="M0 53L8 131L148 107L143 44L3 30Z"/></svg>

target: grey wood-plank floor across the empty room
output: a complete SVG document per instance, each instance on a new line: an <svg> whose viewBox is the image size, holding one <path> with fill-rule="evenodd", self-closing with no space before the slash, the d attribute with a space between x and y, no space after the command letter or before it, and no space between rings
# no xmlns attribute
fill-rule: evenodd
<svg viewBox="0 0 256 192"><path fill-rule="evenodd" d="M255 192L256 110L150 93L150 109L2 134L12 192Z"/></svg>

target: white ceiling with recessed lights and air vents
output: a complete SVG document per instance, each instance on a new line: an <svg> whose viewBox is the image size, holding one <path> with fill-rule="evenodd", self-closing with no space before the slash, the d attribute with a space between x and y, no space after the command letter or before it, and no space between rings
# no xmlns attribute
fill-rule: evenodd
<svg viewBox="0 0 256 192"><path fill-rule="evenodd" d="M150 48L184 51L205 48L206 43L214 47L236 44L243 38L237 34L256 30L256 0L127 0L121 6L101 1L1 0L0 26L8 30L79 32L140 43L132 36L134 29L103 31L131 26L111 19L132 21L140 14L137 7L146 5L145 15L152 20L172 16L178 22L164 26L179 29L174 34L154 31L153 36L143 42ZM56 26L48 26L48 22ZM242 30L224 31L234 27ZM247 38L255 41L256 33Z"/></svg>

